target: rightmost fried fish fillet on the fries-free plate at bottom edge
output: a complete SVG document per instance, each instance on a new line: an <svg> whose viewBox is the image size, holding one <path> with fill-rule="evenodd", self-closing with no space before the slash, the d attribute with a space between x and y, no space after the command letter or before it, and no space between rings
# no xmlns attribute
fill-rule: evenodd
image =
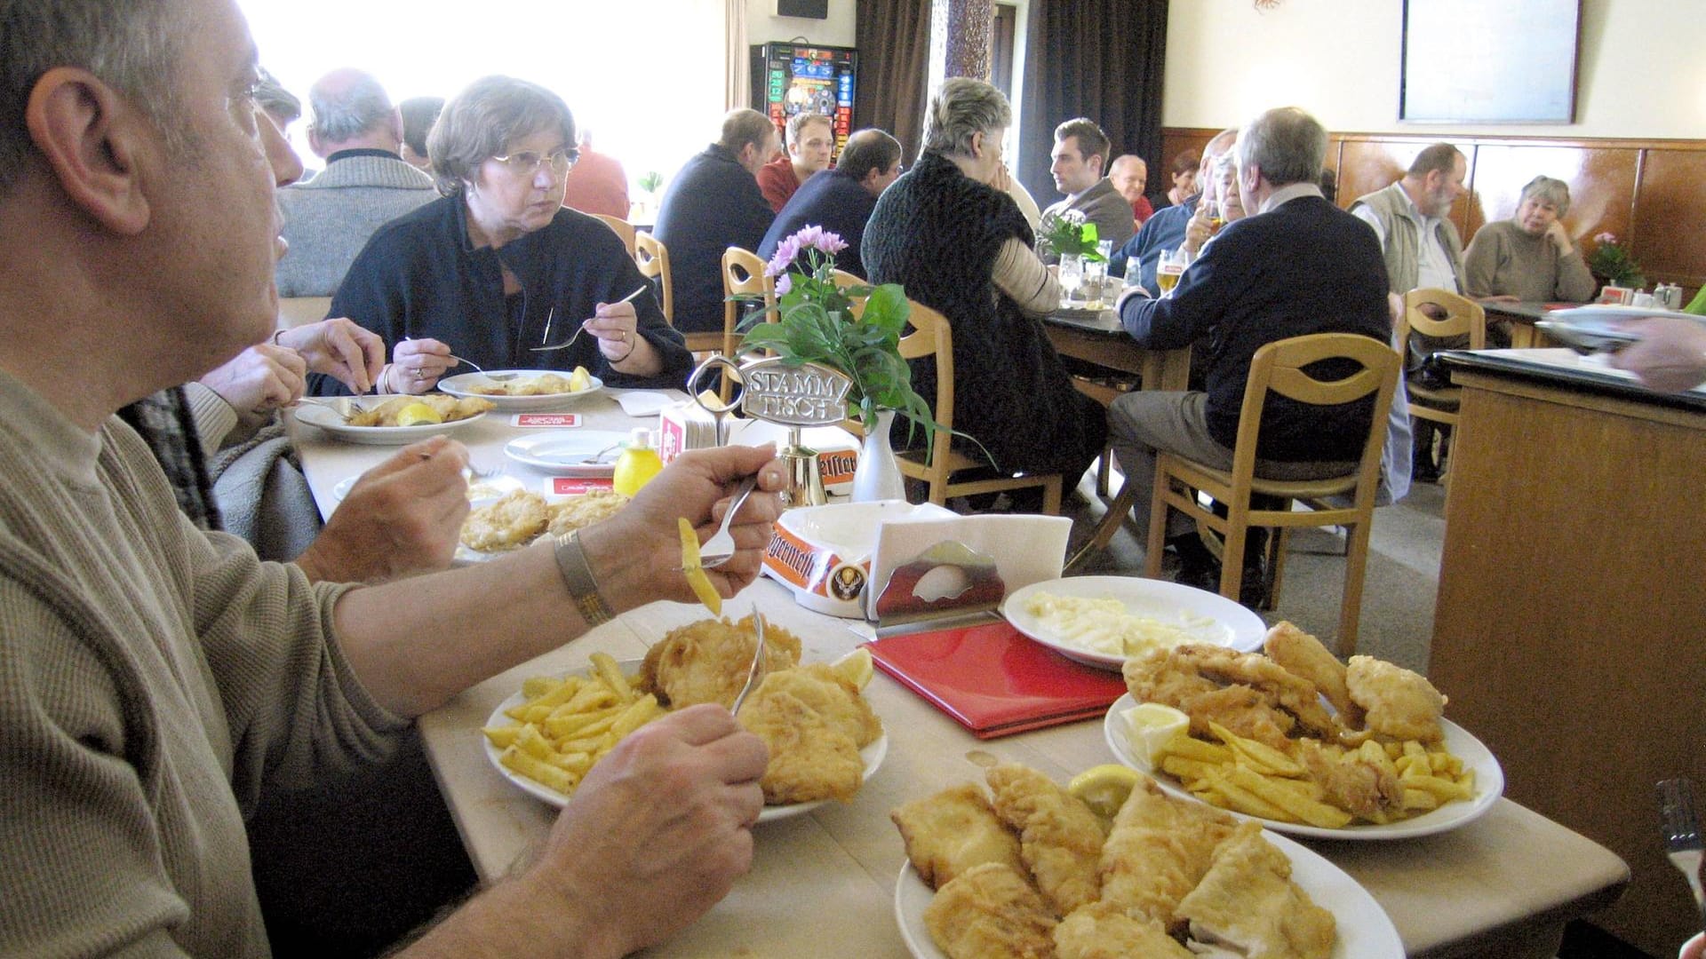
<svg viewBox="0 0 1706 959"><path fill-rule="evenodd" d="M1249 959L1327 959L1332 913L1291 882L1291 860L1242 822L1216 851L1203 882L1179 903L1191 939Z"/></svg>

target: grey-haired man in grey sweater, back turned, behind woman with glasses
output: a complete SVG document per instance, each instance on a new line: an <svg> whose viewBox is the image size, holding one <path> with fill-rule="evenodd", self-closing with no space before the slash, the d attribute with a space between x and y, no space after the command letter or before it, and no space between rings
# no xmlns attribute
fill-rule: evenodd
<svg viewBox="0 0 1706 959"><path fill-rule="evenodd" d="M397 152L403 116L372 73L326 73L309 109L309 147L326 172L278 191L290 244L278 261L280 297L333 295L374 230L438 196Z"/></svg>

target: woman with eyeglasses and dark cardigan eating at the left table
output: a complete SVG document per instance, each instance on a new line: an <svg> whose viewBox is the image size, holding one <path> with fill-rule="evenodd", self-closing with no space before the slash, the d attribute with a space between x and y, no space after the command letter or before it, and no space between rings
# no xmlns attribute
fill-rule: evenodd
<svg viewBox="0 0 1706 959"><path fill-rule="evenodd" d="M380 392L426 392L452 370L473 372L459 358L488 370L587 367L612 386L684 382L693 355L623 241L563 206L577 150L561 97L510 77L474 80L445 104L426 148L444 196L380 227L331 302L331 316L386 340ZM621 302L635 290L645 292ZM312 389L341 384L321 377Z"/></svg>

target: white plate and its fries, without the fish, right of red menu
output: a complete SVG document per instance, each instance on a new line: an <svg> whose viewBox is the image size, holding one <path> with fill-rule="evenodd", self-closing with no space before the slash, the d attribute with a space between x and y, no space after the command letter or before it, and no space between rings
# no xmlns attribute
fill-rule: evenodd
<svg viewBox="0 0 1706 959"><path fill-rule="evenodd" d="M1218 805L1269 829L1324 840L1404 840L1465 826L1505 793L1505 771L1488 747L1464 727L1442 718L1443 741L1363 741L1344 747L1353 759L1389 766L1404 787L1404 809L1387 822L1372 822L1329 802L1295 756L1271 746L1215 730L1216 742L1179 732L1163 744L1143 742L1128 712L1131 695L1114 701L1104 735L1114 756L1155 776L1172 795Z"/></svg>

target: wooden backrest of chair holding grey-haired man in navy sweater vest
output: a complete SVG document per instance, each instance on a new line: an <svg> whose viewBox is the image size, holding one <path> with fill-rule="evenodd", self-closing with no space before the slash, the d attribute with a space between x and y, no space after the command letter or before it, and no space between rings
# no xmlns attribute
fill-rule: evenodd
<svg viewBox="0 0 1706 959"><path fill-rule="evenodd" d="M1361 369L1336 381L1320 381L1303 372L1303 367L1336 358L1353 360ZM1358 457L1355 497L1358 509L1372 509L1375 483L1380 480L1387 415L1392 410L1392 392L1397 391L1401 367L1402 358L1397 350L1356 333L1312 333L1278 340L1257 350L1250 360L1250 379L1244 386L1244 406L1239 411L1239 440L1232 452L1233 486L1249 488L1256 474L1256 444L1269 391L1314 406L1338 406L1373 394L1375 408Z"/></svg>

